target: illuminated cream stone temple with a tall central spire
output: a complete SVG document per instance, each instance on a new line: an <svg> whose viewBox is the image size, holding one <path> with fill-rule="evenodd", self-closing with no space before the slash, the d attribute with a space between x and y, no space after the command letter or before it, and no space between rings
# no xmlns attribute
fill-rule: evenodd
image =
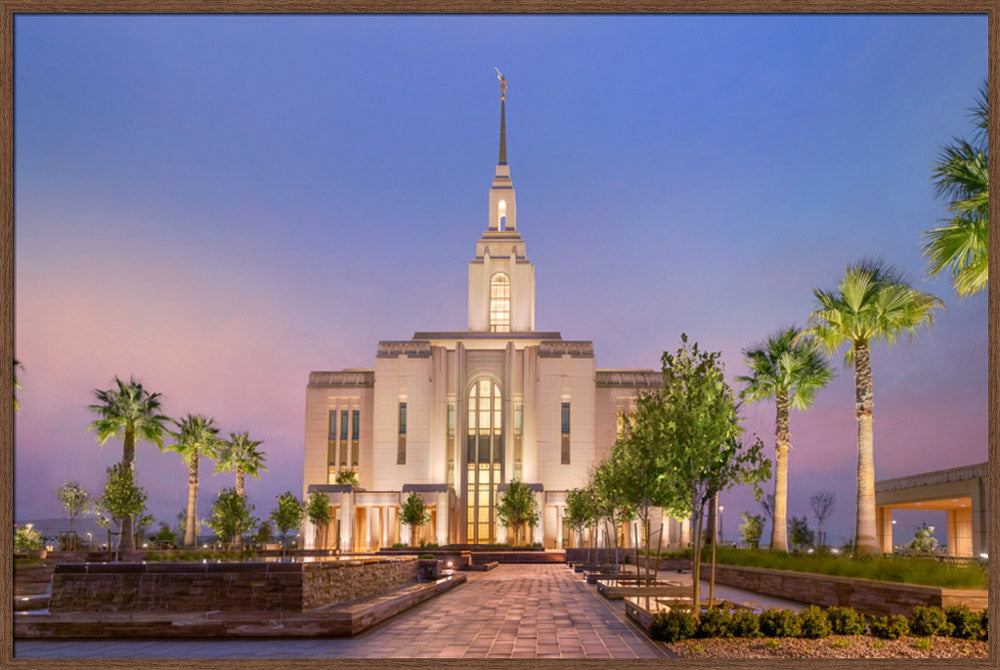
<svg viewBox="0 0 1000 670"><path fill-rule="evenodd" d="M381 341L371 368L309 374L303 494L326 492L334 520L320 533L307 521L306 548L502 543L495 507L515 479L531 487L540 511L531 541L581 546L588 538L563 524L566 494L609 456L638 394L662 385L659 371L598 368L592 342L536 329L504 84L486 227L468 265L467 328ZM337 483L344 470L357 485ZM399 521L411 492L430 511L417 538ZM664 517L657 526L664 546L686 542L686 521Z"/></svg>

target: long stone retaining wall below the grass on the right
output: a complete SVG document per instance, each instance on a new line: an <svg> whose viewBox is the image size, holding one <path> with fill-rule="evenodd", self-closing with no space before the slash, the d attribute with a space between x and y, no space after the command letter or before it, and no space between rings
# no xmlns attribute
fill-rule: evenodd
<svg viewBox="0 0 1000 670"><path fill-rule="evenodd" d="M703 563L701 569L702 578L707 579L711 565ZM985 589L918 586L734 565L716 565L715 582L822 607L853 607L858 612L879 615L909 616L917 605L967 605L972 609L983 609L988 596Z"/></svg>

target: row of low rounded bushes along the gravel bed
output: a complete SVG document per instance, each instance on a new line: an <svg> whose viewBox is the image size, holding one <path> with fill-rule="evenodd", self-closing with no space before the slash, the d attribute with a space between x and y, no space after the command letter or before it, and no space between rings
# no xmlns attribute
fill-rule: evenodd
<svg viewBox="0 0 1000 670"><path fill-rule="evenodd" d="M903 635L941 635L967 640L987 639L986 610L974 612L965 605L914 607L909 618L901 615L865 617L849 607L821 610L815 605L798 614L791 610L768 609L760 614L749 610L730 612L712 607L695 616L685 608L653 615L649 636L676 642L690 637L803 637L869 634L888 640Z"/></svg>

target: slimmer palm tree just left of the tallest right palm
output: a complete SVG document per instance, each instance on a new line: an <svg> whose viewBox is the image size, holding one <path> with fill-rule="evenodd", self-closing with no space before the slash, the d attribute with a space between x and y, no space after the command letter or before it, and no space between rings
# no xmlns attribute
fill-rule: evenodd
<svg viewBox="0 0 1000 670"><path fill-rule="evenodd" d="M744 398L751 402L774 398L777 407L771 549L781 551L788 551L788 450L792 446L789 407L808 409L816 391L833 379L833 371L815 338L800 338L799 333L794 326L785 328L767 341L744 349L743 357L753 374L736 378L747 384Z"/></svg>

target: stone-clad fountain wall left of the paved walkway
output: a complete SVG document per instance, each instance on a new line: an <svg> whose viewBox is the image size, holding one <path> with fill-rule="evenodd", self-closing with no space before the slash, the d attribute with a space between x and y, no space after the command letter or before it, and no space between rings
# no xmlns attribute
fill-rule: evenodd
<svg viewBox="0 0 1000 670"><path fill-rule="evenodd" d="M57 612L301 612L416 581L412 558L56 566Z"/></svg>

